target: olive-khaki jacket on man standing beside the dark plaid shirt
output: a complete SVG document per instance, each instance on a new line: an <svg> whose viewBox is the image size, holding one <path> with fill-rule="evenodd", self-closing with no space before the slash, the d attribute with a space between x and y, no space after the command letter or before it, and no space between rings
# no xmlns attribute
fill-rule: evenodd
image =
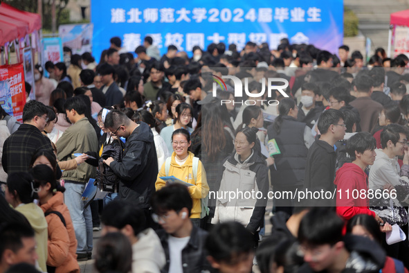
<svg viewBox="0 0 409 273"><path fill-rule="evenodd" d="M75 158L73 154L77 152L96 152L98 139L88 118L81 118L65 130L55 146L57 146L58 160L65 161ZM87 183L95 176L96 168L87 163L80 164L75 170L64 170L62 173L63 179L81 183Z"/></svg>

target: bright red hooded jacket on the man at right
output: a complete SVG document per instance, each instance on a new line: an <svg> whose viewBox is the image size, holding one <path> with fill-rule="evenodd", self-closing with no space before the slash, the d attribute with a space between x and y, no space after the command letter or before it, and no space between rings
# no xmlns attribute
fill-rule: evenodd
<svg viewBox="0 0 409 273"><path fill-rule="evenodd" d="M369 199L361 198L361 189L365 189L367 193L368 186L367 175L358 165L345 163L337 170L334 184L337 187L336 212L344 220L349 220L357 214L375 216L369 209Z"/></svg>

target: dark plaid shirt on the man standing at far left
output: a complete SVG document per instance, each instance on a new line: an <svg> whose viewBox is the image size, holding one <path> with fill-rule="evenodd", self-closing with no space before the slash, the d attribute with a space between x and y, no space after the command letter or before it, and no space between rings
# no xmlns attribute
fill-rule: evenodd
<svg viewBox="0 0 409 273"><path fill-rule="evenodd" d="M4 171L9 175L19 171L26 172L31 157L39 150L53 152L50 139L34 125L21 124L19 129L4 141L1 157Z"/></svg>

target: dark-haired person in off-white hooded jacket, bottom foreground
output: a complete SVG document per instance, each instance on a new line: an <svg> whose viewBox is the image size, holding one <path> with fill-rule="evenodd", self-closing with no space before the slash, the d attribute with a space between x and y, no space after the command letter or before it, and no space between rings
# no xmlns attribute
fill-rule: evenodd
<svg viewBox="0 0 409 273"><path fill-rule="evenodd" d="M109 202L102 211L102 235L125 234L132 244L132 272L160 273L165 265L165 252L155 231L145 229L145 214L124 200Z"/></svg>

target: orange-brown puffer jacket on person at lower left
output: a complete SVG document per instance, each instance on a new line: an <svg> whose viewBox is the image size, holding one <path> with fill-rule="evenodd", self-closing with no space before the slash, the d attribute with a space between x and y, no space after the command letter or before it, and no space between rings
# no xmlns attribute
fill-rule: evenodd
<svg viewBox="0 0 409 273"><path fill-rule="evenodd" d="M64 195L57 191L48 202L42 204L44 213L58 211L64 217L66 227L55 213L46 216L48 224L48 258L47 265L56 267L55 273L80 272L76 261L77 239L69 209L64 204Z"/></svg>

